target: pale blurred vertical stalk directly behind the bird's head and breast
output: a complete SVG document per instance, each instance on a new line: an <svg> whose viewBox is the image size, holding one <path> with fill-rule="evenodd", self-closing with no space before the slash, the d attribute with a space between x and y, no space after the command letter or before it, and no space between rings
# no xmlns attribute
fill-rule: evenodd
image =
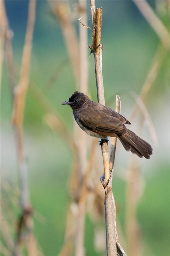
<svg viewBox="0 0 170 256"><path fill-rule="evenodd" d="M87 14L86 14L86 0L79 1L79 10L80 16L82 17L82 22L87 23ZM79 58L80 58L80 69L79 69L79 78L80 86L79 89L83 93L88 93L88 58L87 58L87 42L88 42L88 30L86 27L79 24L80 31L80 47L79 47ZM74 127L75 133L77 135L77 147L78 147L78 160L79 168L77 174L79 175L79 186L78 190L81 189L82 183L84 181L84 175L87 165L87 135L78 127ZM75 243L75 256L85 255L84 249L84 227L85 227L85 215L86 215L86 200L81 200L79 198L78 202L78 216L76 221L76 243Z"/></svg>

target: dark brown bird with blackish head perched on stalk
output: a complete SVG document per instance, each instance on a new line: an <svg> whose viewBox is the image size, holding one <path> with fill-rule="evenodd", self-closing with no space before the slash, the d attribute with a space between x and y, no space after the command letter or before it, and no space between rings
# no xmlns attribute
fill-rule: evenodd
<svg viewBox="0 0 170 256"><path fill-rule="evenodd" d="M84 93L75 91L68 101L73 116L80 128L88 135L100 138L100 144L108 141L107 137L117 137L126 151L131 151L138 157L150 159L152 147L134 132L127 129L131 123L121 114L100 103L92 101Z"/></svg>

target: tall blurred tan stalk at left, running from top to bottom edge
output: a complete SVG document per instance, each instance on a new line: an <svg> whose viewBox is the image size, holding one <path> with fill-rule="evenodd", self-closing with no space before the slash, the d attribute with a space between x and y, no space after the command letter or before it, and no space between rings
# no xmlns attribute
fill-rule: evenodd
<svg viewBox="0 0 170 256"><path fill-rule="evenodd" d="M28 88L29 79L29 68L31 59L32 49L32 37L35 22L35 8L36 0L30 0L28 6L28 23L25 37L25 44L23 49L22 66L20 70L20 80L14 90L13 99L13 125L16 132L16 143L18 151L18 165L19 165L19 177L21 185L21 208L22 215L18 224L18 238L16 248L19 250L20 243L22 241L22 227L27 228L27 236L25 244L27 247L28 255L38 255L38 249L36 241L33 235L33 222L32 222L32 207L29 202L28 192L28 178L27 178L27 167L25 163L24 147L23 147L23 119L24 119L24 108L26 101L26 94Z"/></svg>

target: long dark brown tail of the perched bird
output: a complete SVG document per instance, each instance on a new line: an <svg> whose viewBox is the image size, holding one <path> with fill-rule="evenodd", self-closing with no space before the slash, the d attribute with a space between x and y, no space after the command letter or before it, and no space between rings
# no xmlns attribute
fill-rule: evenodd
<svg viewBox="0 0 170 256"><path fill-rule="evenodd" d="M131 151L140 158L145 157L149 159L150 155L152 155L151 145L129 129L127 129L127 133L118 135L118 138L126 151Z"/></svg>

